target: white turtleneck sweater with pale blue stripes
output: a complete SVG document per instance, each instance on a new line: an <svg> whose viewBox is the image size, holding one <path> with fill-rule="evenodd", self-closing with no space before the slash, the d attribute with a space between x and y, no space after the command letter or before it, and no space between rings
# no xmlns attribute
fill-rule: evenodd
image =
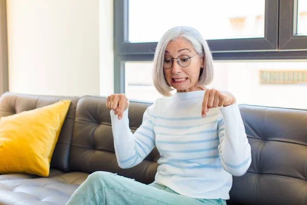
<svg viewBox="0 0 307 205"><path fill-rule="evenodd" d="M157 99L135 133L129 129L128 109L121 120L111 111L119 166L134 167L157 147L156 182L192 198L229 199L232 175L246 173L251 148L237 104L210 109L202 118L204 94Z"/></svg>

